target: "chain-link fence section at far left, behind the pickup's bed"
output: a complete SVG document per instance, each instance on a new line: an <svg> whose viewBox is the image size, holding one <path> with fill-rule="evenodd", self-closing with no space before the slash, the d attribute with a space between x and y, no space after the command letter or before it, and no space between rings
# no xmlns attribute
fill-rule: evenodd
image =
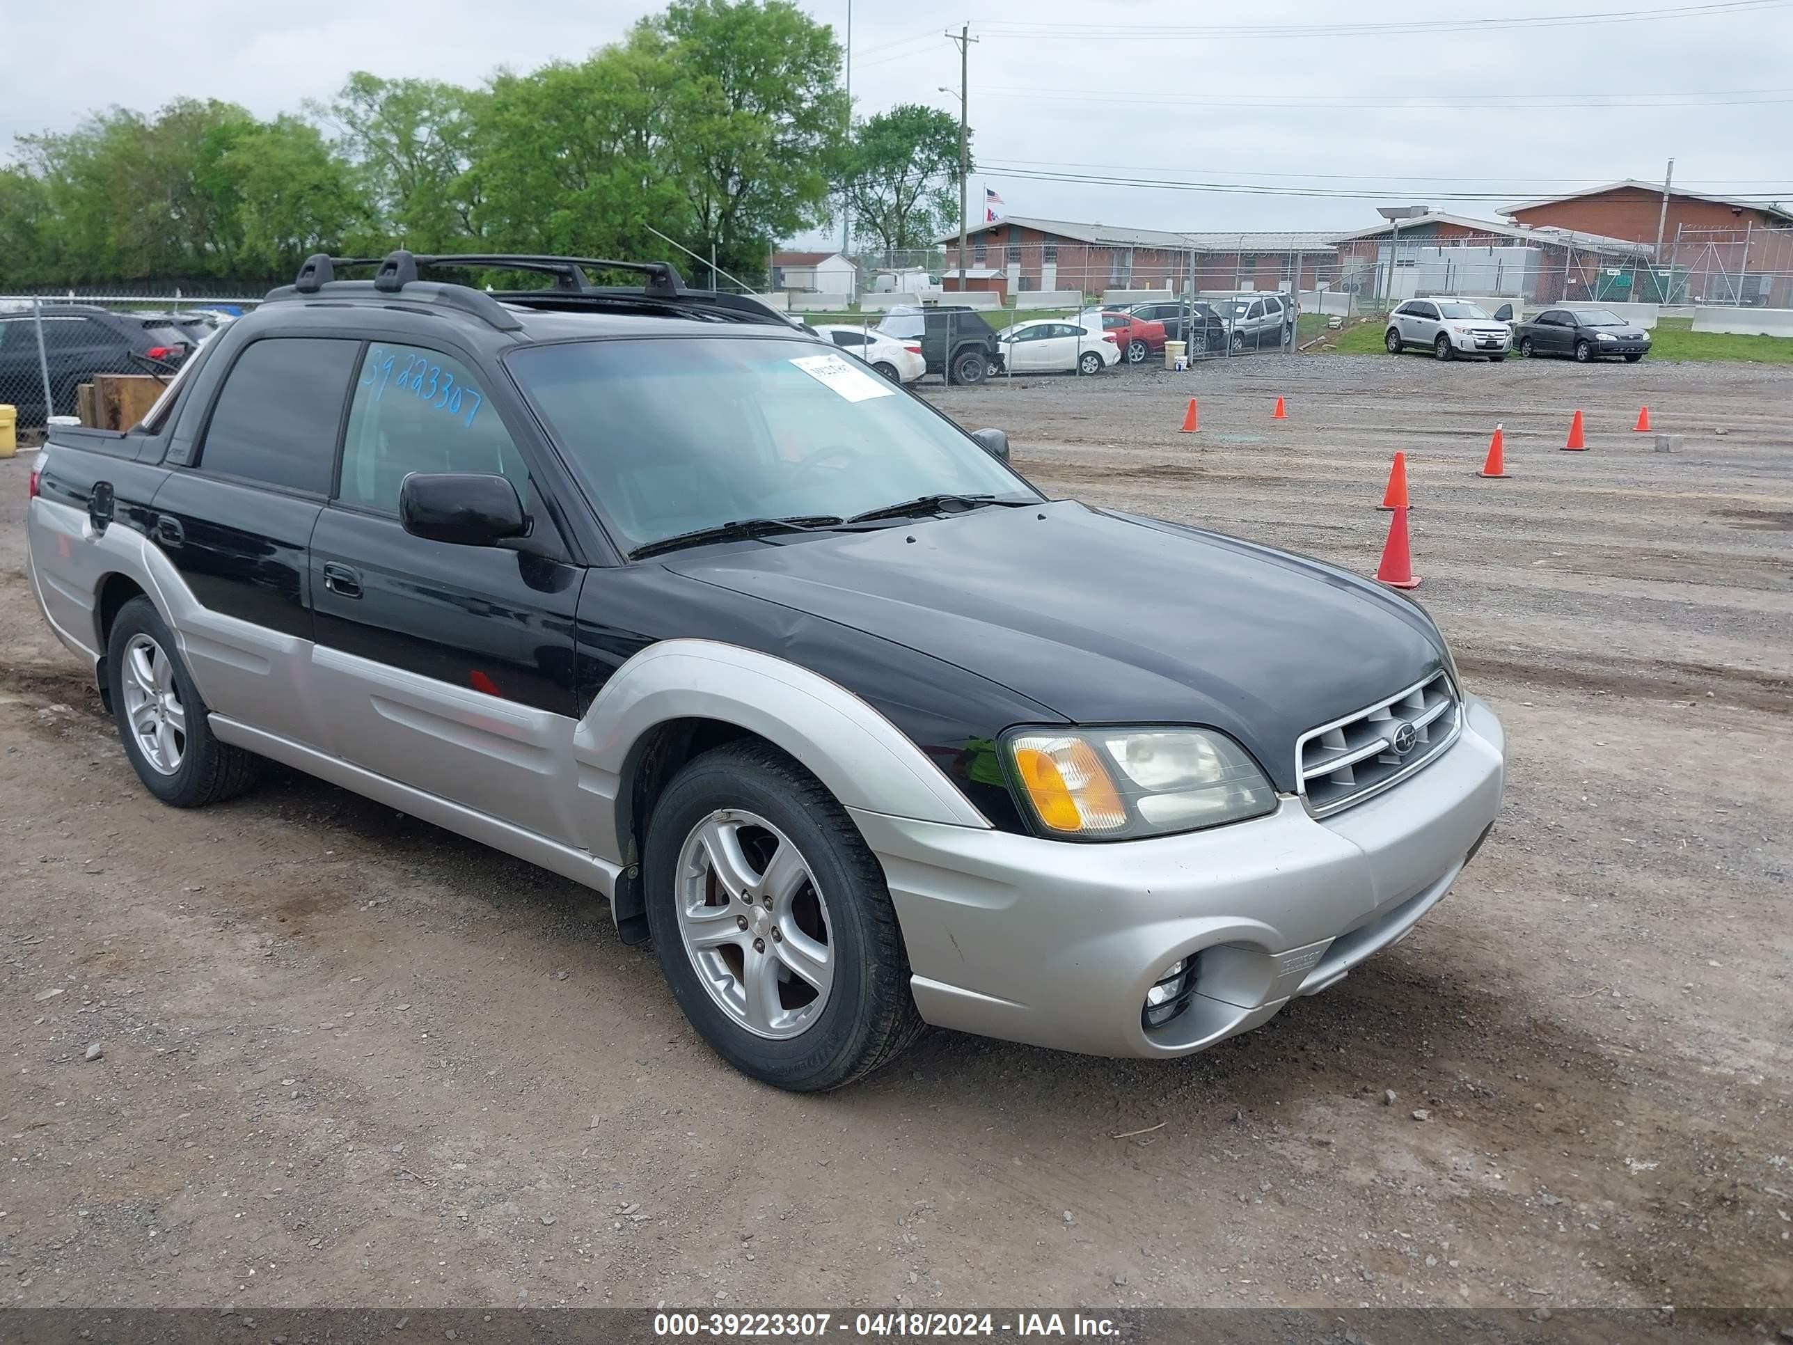
<svg viewBox="0 0 1793 1345"><path fill-rule="evenodd" d="M260 301L178 291L0 296L0 405L16 407L23 430L79 416L95 377L172 378L201 341Z"/></svg>

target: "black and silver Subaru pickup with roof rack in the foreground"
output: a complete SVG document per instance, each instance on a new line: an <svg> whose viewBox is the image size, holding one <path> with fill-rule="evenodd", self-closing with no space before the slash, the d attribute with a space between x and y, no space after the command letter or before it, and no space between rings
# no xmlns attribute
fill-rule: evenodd
<svg viewBox="0 0 1793 1345"><path fill-rule="evenodd" d="M32 473L32 592L167 803L273 759L583 882L785 1089L927 1022L1200 1051L1494 821L1501 725L1404 595L1049 500L665 264L337 265Z"/></svg>

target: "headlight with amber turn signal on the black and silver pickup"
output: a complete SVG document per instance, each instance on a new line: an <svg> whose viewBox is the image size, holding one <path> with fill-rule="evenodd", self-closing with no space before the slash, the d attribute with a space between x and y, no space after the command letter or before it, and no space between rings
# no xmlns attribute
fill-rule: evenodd
<svg viewBox="0 0 1793 1345"><path fill-rule="evenodd" d="M1004 757L1049 836L1165 836L1277 809L1244 748L1205 728L1027 728Z"/></svg>

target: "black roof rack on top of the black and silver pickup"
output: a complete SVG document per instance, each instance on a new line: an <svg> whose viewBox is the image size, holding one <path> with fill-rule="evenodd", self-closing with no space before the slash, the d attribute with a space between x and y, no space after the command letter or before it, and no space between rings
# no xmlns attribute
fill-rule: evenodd
<svg viewBox="0 0 1793 1345"><path fill-rule="evenodd" d="M378 267L371 282L337 280L337 271L346 267ZM493 271L533 271L554 278L550 289L488 292L472 285L454 285L446 282L427 282L418 278L420 269L463 267ZM635 271L645 276L640 289L593 285L588 271ZM515 332L522 326L516 314L504 305L531 308L585 308L585 307L635 307L658 312L678 312L681 308L703 312L712 317L733 321L757 321L789 325L789 319L771 308L762 299L748 294L721 294L708 291L689 291L671 262L619 262L601 256L550 256L538 253L411 253L403 247L387 253L384 260L364 256L326 256L316 253L305 258L298 278L290 285L282 285L267 294L274 299L299 299L314 296L348 294L403 294L405 298L432 299L486 321L502 332Z"/></svg>

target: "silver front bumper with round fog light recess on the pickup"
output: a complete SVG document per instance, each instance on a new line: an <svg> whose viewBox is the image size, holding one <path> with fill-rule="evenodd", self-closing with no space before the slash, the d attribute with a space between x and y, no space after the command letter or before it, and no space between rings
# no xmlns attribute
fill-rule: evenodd
<svg viewBox="0 0 1793 1345"><path fill-rule="evenodd" d="M1501 721L1325 821L1284 798L1208 832L1070 845L852 811L884 864L922 1017L1104 1056L1178 1056L1257 1028L1408 934L1501 805ZM1191 1008L1146 1029L1146 992L1196 959Z"/></svg>

